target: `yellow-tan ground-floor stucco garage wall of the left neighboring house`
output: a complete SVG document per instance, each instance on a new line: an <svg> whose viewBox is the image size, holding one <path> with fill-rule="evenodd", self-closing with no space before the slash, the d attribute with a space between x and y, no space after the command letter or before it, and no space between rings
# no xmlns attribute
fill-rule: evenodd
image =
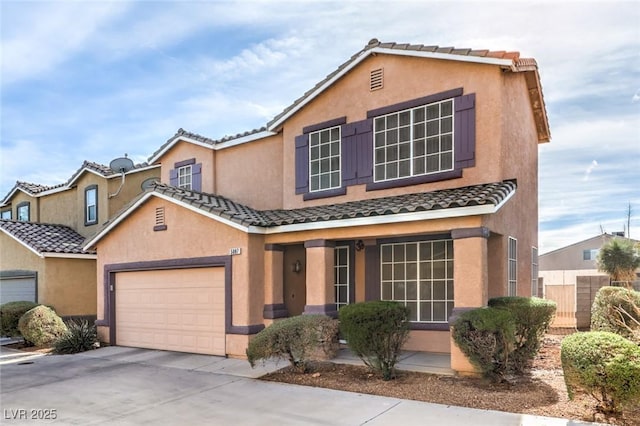
<svg viewBox="0 0 640 426"><path fill-rule="evenodd" d="M62 316L96 314L95 259L41 258L0 232L0 270L38 273L38 303Z"/></svg>

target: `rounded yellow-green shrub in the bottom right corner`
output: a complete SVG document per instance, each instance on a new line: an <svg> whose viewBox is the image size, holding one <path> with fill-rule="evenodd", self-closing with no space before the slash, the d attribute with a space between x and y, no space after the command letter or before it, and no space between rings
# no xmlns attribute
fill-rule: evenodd
<svg viewBox="0 0 640 426"><path fill-rule="evenodd" d="M603 412L640 401L640 346L614 333L575 333L562 341L560 357L569 398L587 393Z"/></svg>

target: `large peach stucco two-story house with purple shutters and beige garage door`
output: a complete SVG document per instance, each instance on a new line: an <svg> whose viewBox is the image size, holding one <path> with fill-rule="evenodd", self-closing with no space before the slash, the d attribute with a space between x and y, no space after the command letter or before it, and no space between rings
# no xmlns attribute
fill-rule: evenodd
<svg viewBox="0 0 640 426"><path fill-rule="evenodd" d="M396 300L407 349L451 352L450 320L537 282L536 62L372 40L266 127L180 129L161 182L85 249L112 344L243 357L277 318Z"/></svg>

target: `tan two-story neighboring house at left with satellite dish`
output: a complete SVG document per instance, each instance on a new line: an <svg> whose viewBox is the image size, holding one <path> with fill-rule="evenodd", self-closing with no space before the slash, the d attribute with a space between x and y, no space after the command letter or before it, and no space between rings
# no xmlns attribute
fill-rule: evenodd
<svg viewBox="0 0 640 426"><path fill-rule="evenodd" d="M85 161L60 185L17 182L0 203L0 303L37 301L65 317L96 316L96 254L84 239L158 177Z"/></svg>

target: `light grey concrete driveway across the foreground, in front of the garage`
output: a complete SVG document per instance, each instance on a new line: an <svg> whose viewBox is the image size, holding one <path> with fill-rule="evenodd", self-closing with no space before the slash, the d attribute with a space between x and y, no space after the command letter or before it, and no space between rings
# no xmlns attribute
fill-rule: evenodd
<svg viewBox="0 0 640 426"><path fill-rule="evenodd" d="M123 347L76 355L0 349L0 423L65 425L578 425L262 382L280 366ZM47 419L48 417L48 419ZM44 419L43 419L44 418Z"/></svg>

